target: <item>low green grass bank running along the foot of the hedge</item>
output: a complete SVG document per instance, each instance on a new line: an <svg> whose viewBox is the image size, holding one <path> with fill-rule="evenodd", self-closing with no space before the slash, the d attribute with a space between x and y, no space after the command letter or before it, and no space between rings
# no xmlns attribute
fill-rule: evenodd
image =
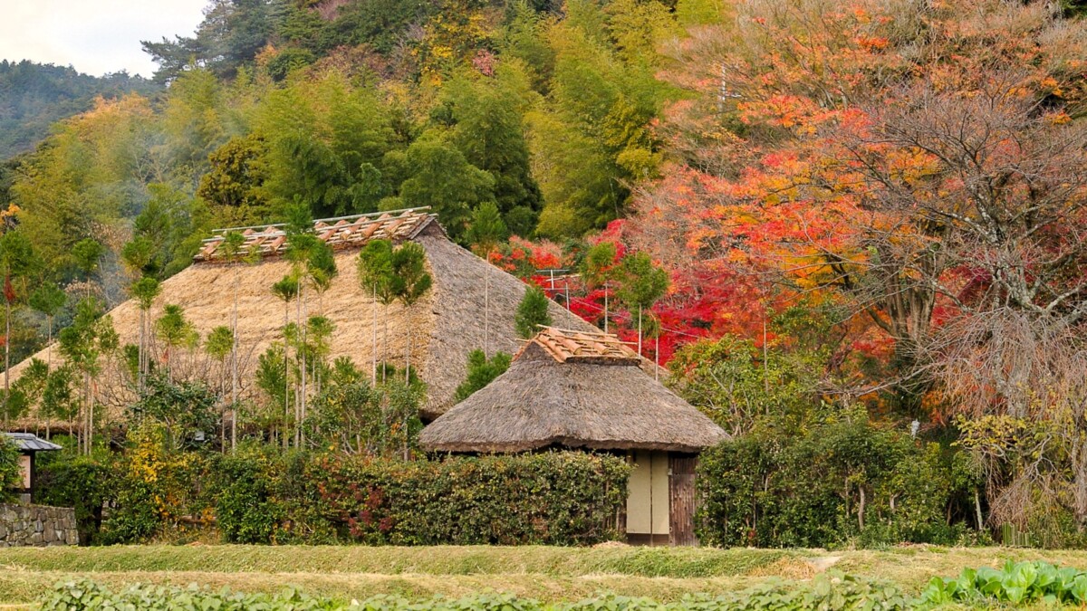
<svg viewBox="0 0 1087 611"><path fill-rule="evenodd" d="M30 571L368 573L383 575L742 575L798 552L755 549L361 546L14 548L0 564Z"/></svg>

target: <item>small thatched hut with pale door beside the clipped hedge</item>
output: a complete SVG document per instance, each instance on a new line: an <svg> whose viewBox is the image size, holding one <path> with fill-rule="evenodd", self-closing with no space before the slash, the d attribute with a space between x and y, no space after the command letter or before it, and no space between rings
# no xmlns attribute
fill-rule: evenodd
<svg viewBox="0 0 1087 611"><path fill-rule="evenodd" d="M449 452L624 452L636 465L630 540L691 544L695 457L728 435L639 362L615 336L545 327L505 373L427 425L420 444Z"/></svg>

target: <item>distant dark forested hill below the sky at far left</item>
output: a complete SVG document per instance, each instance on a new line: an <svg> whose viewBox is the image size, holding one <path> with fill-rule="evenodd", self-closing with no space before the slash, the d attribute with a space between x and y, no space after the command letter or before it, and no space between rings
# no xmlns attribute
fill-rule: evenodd
<svg viewBox="0 0 1087 611"><path fill-rule="evenodd" d="M52 64L0 61L0 160L33 149L53 123L90 110L98 96L158 89L124 73L95 77Z"/></svg>

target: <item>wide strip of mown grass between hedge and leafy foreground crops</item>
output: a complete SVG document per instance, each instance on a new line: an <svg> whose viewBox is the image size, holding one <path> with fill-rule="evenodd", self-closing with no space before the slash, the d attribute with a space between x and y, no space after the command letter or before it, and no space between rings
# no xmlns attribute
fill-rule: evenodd
<svg viewBox="0 0 1087 611"><path fill-rule="evenodd" d="M463 596L497 590L541 600L602 593L674 600L689 593L742 589L769 578L807 579L822 571L897 583L910 593L963 566L1042 559L1087 568L1087 551L911 546L885 551L553 547L132 546L0 551L0 608L25 606L53 584L90 577L132 583L229 586L365 598Z"/></svg>

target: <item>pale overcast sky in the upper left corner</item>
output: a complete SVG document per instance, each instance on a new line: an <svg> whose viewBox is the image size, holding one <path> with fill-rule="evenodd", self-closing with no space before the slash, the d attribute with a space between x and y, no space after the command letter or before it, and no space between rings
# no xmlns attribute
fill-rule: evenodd
<svg viewBox="0 0 1087 611"><path fill-rule="evenodd" d="M188 36L208 0L0 0L0 60L72 65L101 76L150 77L140 40Z"/></svg>

